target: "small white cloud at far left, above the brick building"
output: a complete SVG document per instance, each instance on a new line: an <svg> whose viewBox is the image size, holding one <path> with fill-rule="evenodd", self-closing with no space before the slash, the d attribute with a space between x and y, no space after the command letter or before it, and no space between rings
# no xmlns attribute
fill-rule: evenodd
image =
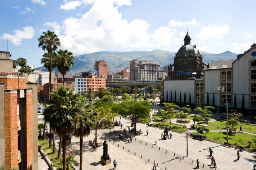
<svg viewBox="0 0 256 170"><path fill-rule="evenodd" d="M10 41L14 44L14 45L20 45L21 41L23 39L31 39L34 36L35 30L33 27L31 26L27 26L24 27L23 30L14 30L13 31L15 34L14 35L10 35L7 33L4 33L2 38L3 39L7 39L7 37L9 37Z"/></svg>

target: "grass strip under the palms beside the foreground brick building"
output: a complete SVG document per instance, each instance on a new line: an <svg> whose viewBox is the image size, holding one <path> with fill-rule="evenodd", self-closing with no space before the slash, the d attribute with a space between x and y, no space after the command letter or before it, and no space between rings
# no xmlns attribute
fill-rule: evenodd
<svg viewBox="0 0 256 170"><path fill-rule="evenodd" d="M48 148L49 141L47 139L38 139L38 144L42 146L42 149L45 153L47 153L48 158L51 160L52 163L55 164L55 168L58 170L62 169L62 157L59 159L58 151L56 153L52 153L52 147ZM69 165L69 169L73 169L72 166Z"/></svg>

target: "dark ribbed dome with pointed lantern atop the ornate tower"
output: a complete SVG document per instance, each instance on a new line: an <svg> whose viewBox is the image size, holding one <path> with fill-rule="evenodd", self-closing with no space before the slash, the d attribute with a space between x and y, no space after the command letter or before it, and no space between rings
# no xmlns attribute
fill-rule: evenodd
<svg viewBox="0 0 256 170"><path fill-rule="evenodd" d="M187 35L184 38L184 45L180 47L180 50L177 52L176 57L189 57L191 55L195 57L199 55L199 51L197 50L196 45L191 45L190 40L191 38L187 32Z"/></svg>

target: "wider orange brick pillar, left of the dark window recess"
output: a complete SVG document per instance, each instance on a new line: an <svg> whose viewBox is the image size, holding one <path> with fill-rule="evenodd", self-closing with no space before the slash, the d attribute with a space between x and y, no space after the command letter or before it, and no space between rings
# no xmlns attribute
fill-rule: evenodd
<svg viewBox="0 0 256 170"><path fill-rule="evenodd" d="M5 166L18 168L17 93L4 94Z"/></svg>

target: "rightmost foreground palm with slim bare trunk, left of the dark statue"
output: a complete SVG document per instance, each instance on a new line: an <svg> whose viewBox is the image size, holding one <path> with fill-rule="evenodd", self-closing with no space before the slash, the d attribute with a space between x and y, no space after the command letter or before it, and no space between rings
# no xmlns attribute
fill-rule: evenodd
<svg viewBox="0 0 256 170"><path fill-rule="evenodd" d="M86 105L86 98L82 95L80 96L80 102L84 109L82 110L84 116L77 120L76 129L74 135L80 137L80 164L79 169L82 170L83 166L83 136L90 135L90 128L92 127L94 120L92 118L92 109L90 105Z"/></svg>

